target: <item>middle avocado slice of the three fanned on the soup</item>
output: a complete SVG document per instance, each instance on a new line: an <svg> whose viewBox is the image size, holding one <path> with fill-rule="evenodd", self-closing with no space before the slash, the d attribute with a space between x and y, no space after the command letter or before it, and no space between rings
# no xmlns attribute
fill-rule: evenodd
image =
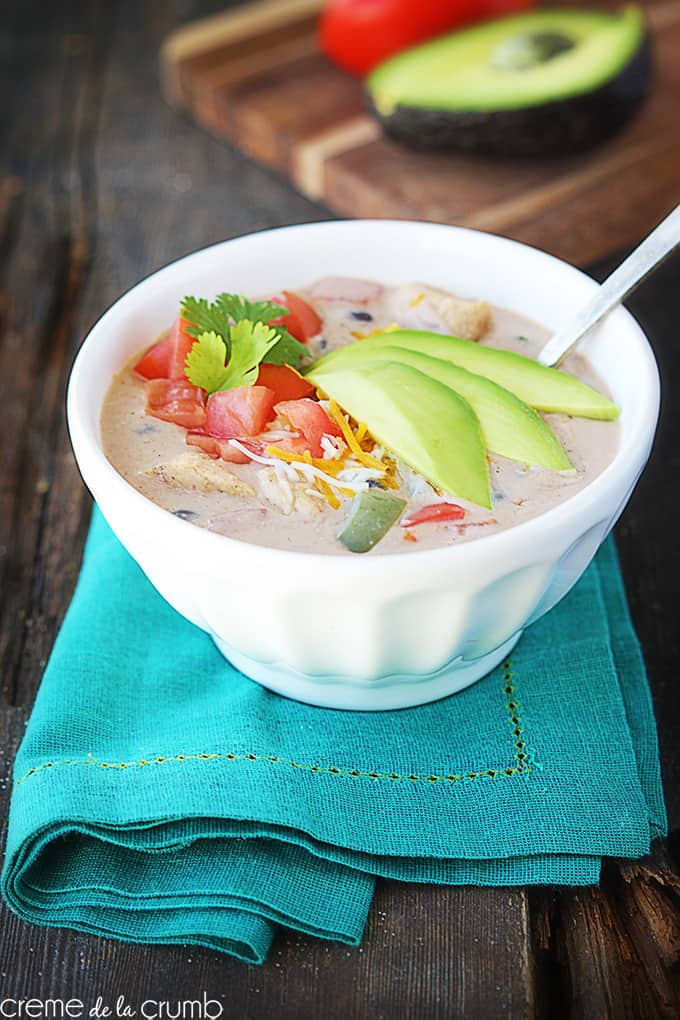
<svg viewBox="0 0 680 1020"><path fill-rule="evenodd" d="M509 390L483 375L404 347L366 348L362 343L359 352L363 355L362 365L376 360L398 361L455 390L467 400L479 418L484 443L490 453L525 464L537 464L553 471L566 471L572 466L560 440L540 415ZM335 367L339 360L334 362ZM356 358L354 364L358 364ZM333 370L332 364L329 369ZM314 378L323 388L322 365L314 372Z"/></svg>

